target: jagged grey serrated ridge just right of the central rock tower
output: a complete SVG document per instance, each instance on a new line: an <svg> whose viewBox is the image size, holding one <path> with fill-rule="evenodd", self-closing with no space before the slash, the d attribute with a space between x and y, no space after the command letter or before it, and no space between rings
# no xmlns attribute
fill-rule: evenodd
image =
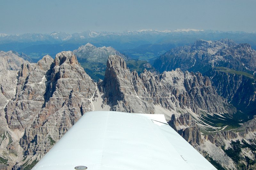
<svg viewBox="0 0 256 170"><path fill-rule="evenodd" d="M199 72L183 73L180 69L176 69L164 72L160 76L153 76L145 70L140 77L153 97L154 104L160 104L170 111L180 107L181 109L191 108L199 115L203 112L230 115L236 112L226 99L217 94L210 79Z"/></svg>

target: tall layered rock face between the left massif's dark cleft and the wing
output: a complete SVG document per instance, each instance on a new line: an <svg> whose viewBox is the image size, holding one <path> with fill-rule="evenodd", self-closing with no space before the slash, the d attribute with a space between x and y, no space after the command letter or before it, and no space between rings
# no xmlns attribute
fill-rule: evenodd
<svg viewBox="0 0 256 170"><path fill-rule="evenodd" d="M94 110L96 84L76 56L71 51L58 53L52 67L42 109L21 139L28 157L43 156L85 112Z"/></svg>

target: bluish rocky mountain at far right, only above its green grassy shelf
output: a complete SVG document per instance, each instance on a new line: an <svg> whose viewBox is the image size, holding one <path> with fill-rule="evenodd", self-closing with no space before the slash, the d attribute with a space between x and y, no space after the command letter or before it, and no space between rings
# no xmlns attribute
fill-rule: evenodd
<svg viewBox="0 0 256 170"><path fill-rule="evenodd" d="M256 51L249 44L231 40L196 40L192 46L177 47L160 56L154 66L161 72L180 68L182 71L206 72L211 67L227 67L237 71L256 70Z"/></svg>

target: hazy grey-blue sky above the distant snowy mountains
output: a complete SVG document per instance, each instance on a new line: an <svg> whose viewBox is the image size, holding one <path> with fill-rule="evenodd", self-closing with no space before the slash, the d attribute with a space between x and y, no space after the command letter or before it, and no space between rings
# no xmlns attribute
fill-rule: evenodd
<svg viewBox="0 0 256 170"><path fill-rule="evenodd" d="M0 33L256 31L256 0L0 0Z"/></svg>

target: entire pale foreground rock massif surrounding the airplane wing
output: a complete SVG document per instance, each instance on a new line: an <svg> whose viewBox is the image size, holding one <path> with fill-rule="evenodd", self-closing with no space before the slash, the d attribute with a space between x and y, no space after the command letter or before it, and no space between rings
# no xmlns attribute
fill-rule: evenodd
<svg viewBox="0 0 256 170"><path fill-rule="evenodd" d="M100 110L164 114L216 167L236 169L254 160L255 118L226 129L222 120L235 121L237 110L202 73L177 68L139 75L115 54L107 59L104 80L96 83L71 51L55 59L46 55L37 63L6 55L11 59L1 56L5 65L0 73L12 76L0 80L5 97L0 107L0 167L31 169L85 112ZM8 63L15 58L22 62Z"/></svg>

